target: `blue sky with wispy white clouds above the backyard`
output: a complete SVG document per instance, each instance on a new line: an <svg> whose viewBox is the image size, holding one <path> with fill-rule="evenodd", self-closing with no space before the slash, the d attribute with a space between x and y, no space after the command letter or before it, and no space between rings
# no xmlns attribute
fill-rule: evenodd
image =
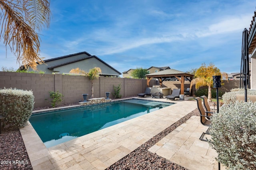
<svg viewBox="0 0 256 170"><path fill-rule="evenodd" d="M50 27L38 32L40 57L86 51L119 72L150 66L186 72L202 63L240 72L242 31L255 7L255 0L52 0ZM0 70L18 68L3 43L0 56Z"/></svg>

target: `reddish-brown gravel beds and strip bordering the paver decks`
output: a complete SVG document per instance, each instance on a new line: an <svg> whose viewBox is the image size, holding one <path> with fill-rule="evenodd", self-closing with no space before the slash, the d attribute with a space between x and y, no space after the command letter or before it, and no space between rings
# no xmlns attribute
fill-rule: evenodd
<svg viewBox="0 0 256 170"><path fill-rule="evenodd" d="M65 104L64 106L76 105ZM63 106L63 105L62 105ZM49 108L49 107L48 107ZM46 109L46 107L35 108ZM179 125L186 122L192 115L199 115L198 109L195 109L182 119L144 143L138 149L134 150L112 166L108 170L144 170L144 169L158 169L158 170L186 170L186 168L179 166L162 158L156 154L147 151L155 143L160 141L163 137L168 135L171 131L176 129ZM0 134L0 169L1 170L32 170L32 166L26 152L20 131L18 128L5 128Z"/></svg>

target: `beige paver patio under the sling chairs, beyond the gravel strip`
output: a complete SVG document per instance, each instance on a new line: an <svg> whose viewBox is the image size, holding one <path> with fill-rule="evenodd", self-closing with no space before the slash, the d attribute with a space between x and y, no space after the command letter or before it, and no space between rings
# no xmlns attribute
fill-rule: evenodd
<svg viewBox="0 0 256 170"><path fill-rule="evenodd" d="M192 116L148 151L179 164L189 170L218 170L218 156L208 142L199 139L208 127L200 123L200 117ZM205 135L204 139L210 135ZM221 166L221 170L225 168Z"/></svg>

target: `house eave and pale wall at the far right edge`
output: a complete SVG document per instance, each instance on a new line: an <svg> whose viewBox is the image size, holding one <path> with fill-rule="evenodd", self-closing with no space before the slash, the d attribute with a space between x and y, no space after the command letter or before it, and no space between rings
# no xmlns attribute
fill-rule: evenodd
<svg viewBox="0 0 256 170"><path fill-rule="evenodd" d="M256 90L256 11L254 12L254 16L252 17L252 22L250 24L250 29L248 31L248 34L249 34L248 47L249 47L249 55L251 58L250 88Z"/></svg>

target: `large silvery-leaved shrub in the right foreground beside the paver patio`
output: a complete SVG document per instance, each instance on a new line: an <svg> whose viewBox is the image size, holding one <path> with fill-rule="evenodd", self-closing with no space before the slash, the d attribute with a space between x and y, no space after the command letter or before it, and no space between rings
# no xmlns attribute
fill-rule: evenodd
<svg viewBox="0 0 256 170"><path fill-rule="evenodd" d="M256 169L256 103L235 102L212 117L210 145L232 170Z"/></svg>

